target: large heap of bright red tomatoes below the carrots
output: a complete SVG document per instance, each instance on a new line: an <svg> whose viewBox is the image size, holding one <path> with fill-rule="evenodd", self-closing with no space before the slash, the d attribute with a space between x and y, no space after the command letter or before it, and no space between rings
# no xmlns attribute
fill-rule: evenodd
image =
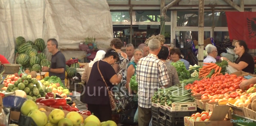
<svg viewBox="0 0 256 126"><path fill-rule="evenodd" d="M240 89L239 84L244 79L242 76L237 77L235 74L219 75L206 80L194 81L194 83L186 85L185 89L192 89L193 95L205 93L211 96L225 94ZM247 88L249 89L249 87Z"/></svg>

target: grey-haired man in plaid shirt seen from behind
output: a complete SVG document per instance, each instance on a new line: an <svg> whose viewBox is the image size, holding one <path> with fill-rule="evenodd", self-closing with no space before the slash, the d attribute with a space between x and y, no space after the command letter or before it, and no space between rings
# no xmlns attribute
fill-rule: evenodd
<svg viewBox="0 0 256 126"><path fill-rule="evenodd" d="M151 98L159 87L169 84L167 68L157 58L161 50L160 41L151 39L148 43L149 55L141 58L137 63L138 82L138 122L139 126L149 126L151 120Z"/></svg>

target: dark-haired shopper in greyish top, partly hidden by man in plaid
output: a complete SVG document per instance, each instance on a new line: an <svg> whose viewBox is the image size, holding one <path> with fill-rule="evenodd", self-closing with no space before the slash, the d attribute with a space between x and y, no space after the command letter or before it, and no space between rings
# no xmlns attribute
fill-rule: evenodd
<svg viewBox="0 0 256 126"><path fill-rule="evenodd" d="M178 76L176 68L174 66L172 66L169 62L166 62L168 56L169 56L168 48L166 46L162 46L157 57L158 57L158 59L162 60L166 65L166 68L168 70L168 75L170 78L169 85L167 87L171 87L173 85L179 84L179 76Z"/></svg>

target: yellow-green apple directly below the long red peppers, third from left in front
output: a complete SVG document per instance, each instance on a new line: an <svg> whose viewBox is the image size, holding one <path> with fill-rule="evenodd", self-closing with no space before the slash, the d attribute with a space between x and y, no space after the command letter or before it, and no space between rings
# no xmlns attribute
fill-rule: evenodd
<svg viewBox="0 0 256 126"><path fill-rule="evenodd" d="M65 114L61 109L53 109L48 116L49 122L58 124L58 122L65 118Z"/></svg>

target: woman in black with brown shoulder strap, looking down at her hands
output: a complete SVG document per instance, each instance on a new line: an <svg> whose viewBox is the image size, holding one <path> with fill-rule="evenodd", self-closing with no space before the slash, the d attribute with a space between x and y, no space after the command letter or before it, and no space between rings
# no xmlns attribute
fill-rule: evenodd
<svg viewBox="0 0 256 126"><path fill-rule="evenodd" d="M113 49L108 50L102 60L93 64L88 83L85 86L85 103L88 105L88 110L98 117L100 122L112 120L108 91L105 82L100 76L100 72L112 91L114 84L120 83L122 78L121 74L117 76L114 68L111 66L118 62L118 60L119 55L117 52ZM98 63L100 72L98 70Z"/></svg>

